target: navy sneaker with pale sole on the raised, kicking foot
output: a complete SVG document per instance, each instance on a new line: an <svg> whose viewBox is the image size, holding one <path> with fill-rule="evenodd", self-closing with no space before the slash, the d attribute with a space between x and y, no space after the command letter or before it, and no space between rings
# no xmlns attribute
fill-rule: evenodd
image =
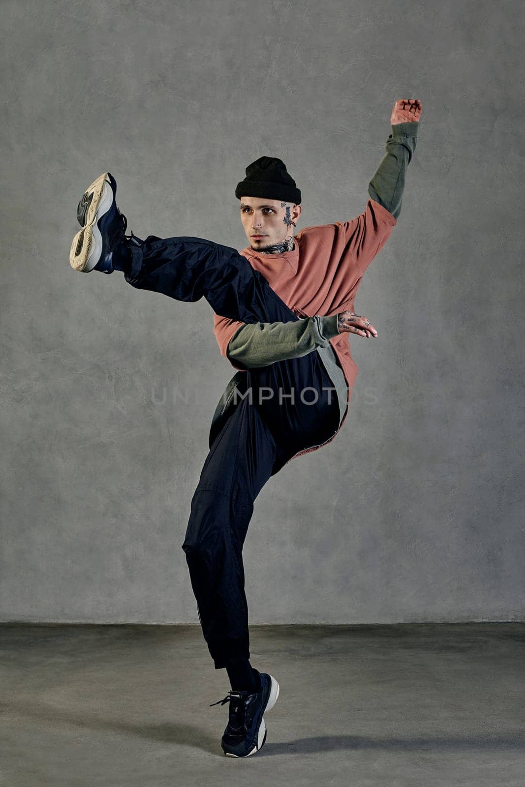
<svg viewBox="0 0 525 787"><path fill-rule="evenodd" d="M76 271L113 273L129 260L128 220L116 206L116 180L105 172L91 183L76 209L82 229L73 238L69 262ZM131 233L132 237L133 233Z"/></svg>

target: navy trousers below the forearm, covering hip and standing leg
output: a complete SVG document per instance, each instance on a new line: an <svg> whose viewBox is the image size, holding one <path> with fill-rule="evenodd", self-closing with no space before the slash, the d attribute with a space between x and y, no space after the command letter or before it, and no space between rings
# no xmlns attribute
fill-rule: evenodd
<svg viewBox="0 0 525 787"><path fill-rule="evenodd" d="M251 389L251 400L240 398L213 439L191 501L182 548L216 669L250 658L242 545L253 502L295 453L325 442L338 427L338 402L330 398L331 380L323 364L312 359L316 355L246 372L242 393ZM283 382L295 386L294 405L286 398L287 389L279 405ZM309 389L305 401L303 382ZM265 396L268 391L275 395L264 398L261 406L263 386Z"/></svg>

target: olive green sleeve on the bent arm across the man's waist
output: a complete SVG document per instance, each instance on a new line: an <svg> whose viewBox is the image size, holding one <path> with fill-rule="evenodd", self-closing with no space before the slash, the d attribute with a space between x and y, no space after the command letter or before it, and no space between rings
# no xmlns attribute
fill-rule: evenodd
<svg viewBox="0 0 525 787"><path fill-rule="evenodd" d="M226 354L246 369L300 358L317 347L327 347L328 339L339 333L337 323L337 314L314 315L291 323L246 323L231 337Z"/></svg>

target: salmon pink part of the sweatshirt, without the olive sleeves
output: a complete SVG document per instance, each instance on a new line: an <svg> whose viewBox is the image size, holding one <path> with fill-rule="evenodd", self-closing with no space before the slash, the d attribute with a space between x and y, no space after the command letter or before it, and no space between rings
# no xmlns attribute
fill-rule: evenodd
<svg viewBox="0 0 525 787"><path fill-rule="evenodd" d="M294 235L293 251L264 254L247 246L239 253L247 258L252 268L262 273L272 290L295 315L331 316L346 310L353 311L360 280L375 255L390 238L390 232L396 224L397 220L383 205L369 199L364 212L351 221L336 221L335 224L321 224L300 230ZM213 315L213 323L220 353L227 358L228 342L235 331L246 323L217 314ZM331 338L330 343L342 366L349 389L340 430L348 413L358 367L350 353L347 332ZM233 360L228 360L234 368L246 371L241 370ZM336 434L327 442L331 442ZM316 448L305 449L301 454Z"/></svg>

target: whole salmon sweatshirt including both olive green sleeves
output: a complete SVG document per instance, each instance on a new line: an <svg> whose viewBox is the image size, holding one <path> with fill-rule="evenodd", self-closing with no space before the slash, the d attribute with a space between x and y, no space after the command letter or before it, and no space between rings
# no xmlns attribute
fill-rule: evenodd
<svg viewBox="0 0 525 787"><path fill-rule="evenodd" d="M248 246L239 252L264 275L299 320L243 323L213 316L220 353L238 371L317 350L337 391L341 413L338 430L346 419L358 371L350 352L349 333L338 332L338 314L355 310L354 299L364 272L397 224L418 127L418 122L391 126L386 153L368 185L370 199L359 216L305 227L294 235L291 251L264 253ZM296 456L320 447L305 449Z"/></svg>

